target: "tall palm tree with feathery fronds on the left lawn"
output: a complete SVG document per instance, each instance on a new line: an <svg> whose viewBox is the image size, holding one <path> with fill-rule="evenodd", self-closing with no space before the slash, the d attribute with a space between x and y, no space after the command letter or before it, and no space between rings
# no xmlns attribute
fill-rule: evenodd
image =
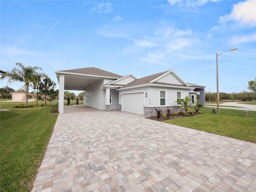
<svg viewBox="0 0 256 192"><path fill-rule="evenodd" d="M2 74L1 80L8 78L8 83L12 82L24 82L25 88L26 88L26 105L28 105L28 90L29 90L29 84L34 81L36 70L42 68L34 66L24 66L22 63L16 63L16 66L18 68L14 67L11 71L6 71L5 74Z"/></svg>

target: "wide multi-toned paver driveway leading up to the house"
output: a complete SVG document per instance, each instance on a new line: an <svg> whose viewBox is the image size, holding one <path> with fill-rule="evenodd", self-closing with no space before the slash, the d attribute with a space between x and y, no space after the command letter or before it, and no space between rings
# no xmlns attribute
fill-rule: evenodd
<svg viewBox="0 0 256 192"><path fill-rule="evenodd" d="M256 191L256 144L127 112L59 114L32 192Z"/></svg>

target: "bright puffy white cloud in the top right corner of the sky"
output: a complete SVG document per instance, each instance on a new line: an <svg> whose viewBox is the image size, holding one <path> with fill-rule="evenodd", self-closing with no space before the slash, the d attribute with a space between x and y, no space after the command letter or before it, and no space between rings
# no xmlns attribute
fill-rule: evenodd
<svg viewBox="0 0 256 192"><path fill-rule="evenodd" d="M235 21L243 25L256 26L256 1L248 0L233 5L232 12L220 17L220 23Z"/></svg>

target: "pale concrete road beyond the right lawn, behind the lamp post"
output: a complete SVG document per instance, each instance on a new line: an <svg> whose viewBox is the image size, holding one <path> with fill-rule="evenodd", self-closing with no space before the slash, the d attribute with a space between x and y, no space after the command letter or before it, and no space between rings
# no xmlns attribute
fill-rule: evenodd
<svg viewBox="0 0 256 192"><path fill-rule="evenodd" d="M211 108L217 108L217 104L206 104L206 107L211 107ZM212 106L214 105L214 106ZM230 107L223 107L223 106L230 106ZM234 107L232 107L234 106ZM244 110L244 111L256 111L256 105L249 105L244 102L244 104L241 104L241 102L225 102L220 104L220 108L223 109L235 109L235 110Z"/></svg>

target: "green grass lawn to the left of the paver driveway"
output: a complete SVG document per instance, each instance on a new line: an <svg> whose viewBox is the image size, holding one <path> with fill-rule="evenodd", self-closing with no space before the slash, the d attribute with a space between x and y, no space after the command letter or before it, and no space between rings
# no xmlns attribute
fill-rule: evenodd
<svg viewBox="0 0 256 192"><path fill-rule="evenodd" d="M1 102L0 188L4 192L29 192L41 164L58 114L49 106L13 108L24 102ZM36 102L29 102L35 104Z"/></svg>

